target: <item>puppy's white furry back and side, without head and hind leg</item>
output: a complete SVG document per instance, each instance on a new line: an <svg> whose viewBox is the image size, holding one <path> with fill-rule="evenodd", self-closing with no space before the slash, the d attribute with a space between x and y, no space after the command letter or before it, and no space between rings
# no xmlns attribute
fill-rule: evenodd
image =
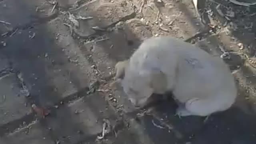
<svg viewBox="0 0 256 144"><path fill-rule="evenodd" d="M236 98L234 77L223 60L176 38L146 39L130 58L130 65L136 65L135 70L159 68L167 75L168 88L175 86L184 99L217 93L226 101Z"/></svg>

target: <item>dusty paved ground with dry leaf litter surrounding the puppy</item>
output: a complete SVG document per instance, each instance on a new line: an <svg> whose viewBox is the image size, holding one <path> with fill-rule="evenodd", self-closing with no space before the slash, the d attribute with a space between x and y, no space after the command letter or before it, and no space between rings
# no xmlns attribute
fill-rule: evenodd
<svg viewBox="0 0 256 144"><path fill-rule="evenodd" d="M190 0L0 0L0 143L255 144L256 5L206 0L200 12L203 24ZM132 112L109 86L113 67L162 35L223 57L233 108L180 119L170 100Z"/></svg>

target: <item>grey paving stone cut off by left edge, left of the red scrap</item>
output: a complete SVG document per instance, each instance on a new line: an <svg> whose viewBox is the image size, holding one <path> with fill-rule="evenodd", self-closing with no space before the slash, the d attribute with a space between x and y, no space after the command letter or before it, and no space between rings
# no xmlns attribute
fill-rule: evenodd
<svg viewBox="0 0 256 144"><path fill-rule="evenodd" d="M0 126L30 113L15 74L0 77Z"/></svg>

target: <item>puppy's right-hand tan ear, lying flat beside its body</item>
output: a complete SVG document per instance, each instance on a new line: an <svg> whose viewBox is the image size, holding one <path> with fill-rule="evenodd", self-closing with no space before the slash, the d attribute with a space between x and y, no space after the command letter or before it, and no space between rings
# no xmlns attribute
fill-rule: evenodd
<svg viewBox="0 0 256 144"><path fill-rule="evenodd" d="M166 75L159 69L153 69L150 72L150 87L157 94L162 94L167 90Z"/></svg>

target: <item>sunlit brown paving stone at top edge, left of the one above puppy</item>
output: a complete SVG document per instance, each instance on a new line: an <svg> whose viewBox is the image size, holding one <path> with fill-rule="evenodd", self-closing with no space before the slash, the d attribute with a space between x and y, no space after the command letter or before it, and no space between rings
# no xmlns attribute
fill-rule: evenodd
<svg viewBox="0 0 256 144"><path fill-rule="evenodd" d="M76 10L72 10L72 13L82 17L93 17L88 20L78 20L80 26L74 28L76 34L87 37L98 31L93 27L98 26L100 29L105 29L127 17L133 16L134 10L126 1L105 3L103 0L94 0Z"/></svg>

